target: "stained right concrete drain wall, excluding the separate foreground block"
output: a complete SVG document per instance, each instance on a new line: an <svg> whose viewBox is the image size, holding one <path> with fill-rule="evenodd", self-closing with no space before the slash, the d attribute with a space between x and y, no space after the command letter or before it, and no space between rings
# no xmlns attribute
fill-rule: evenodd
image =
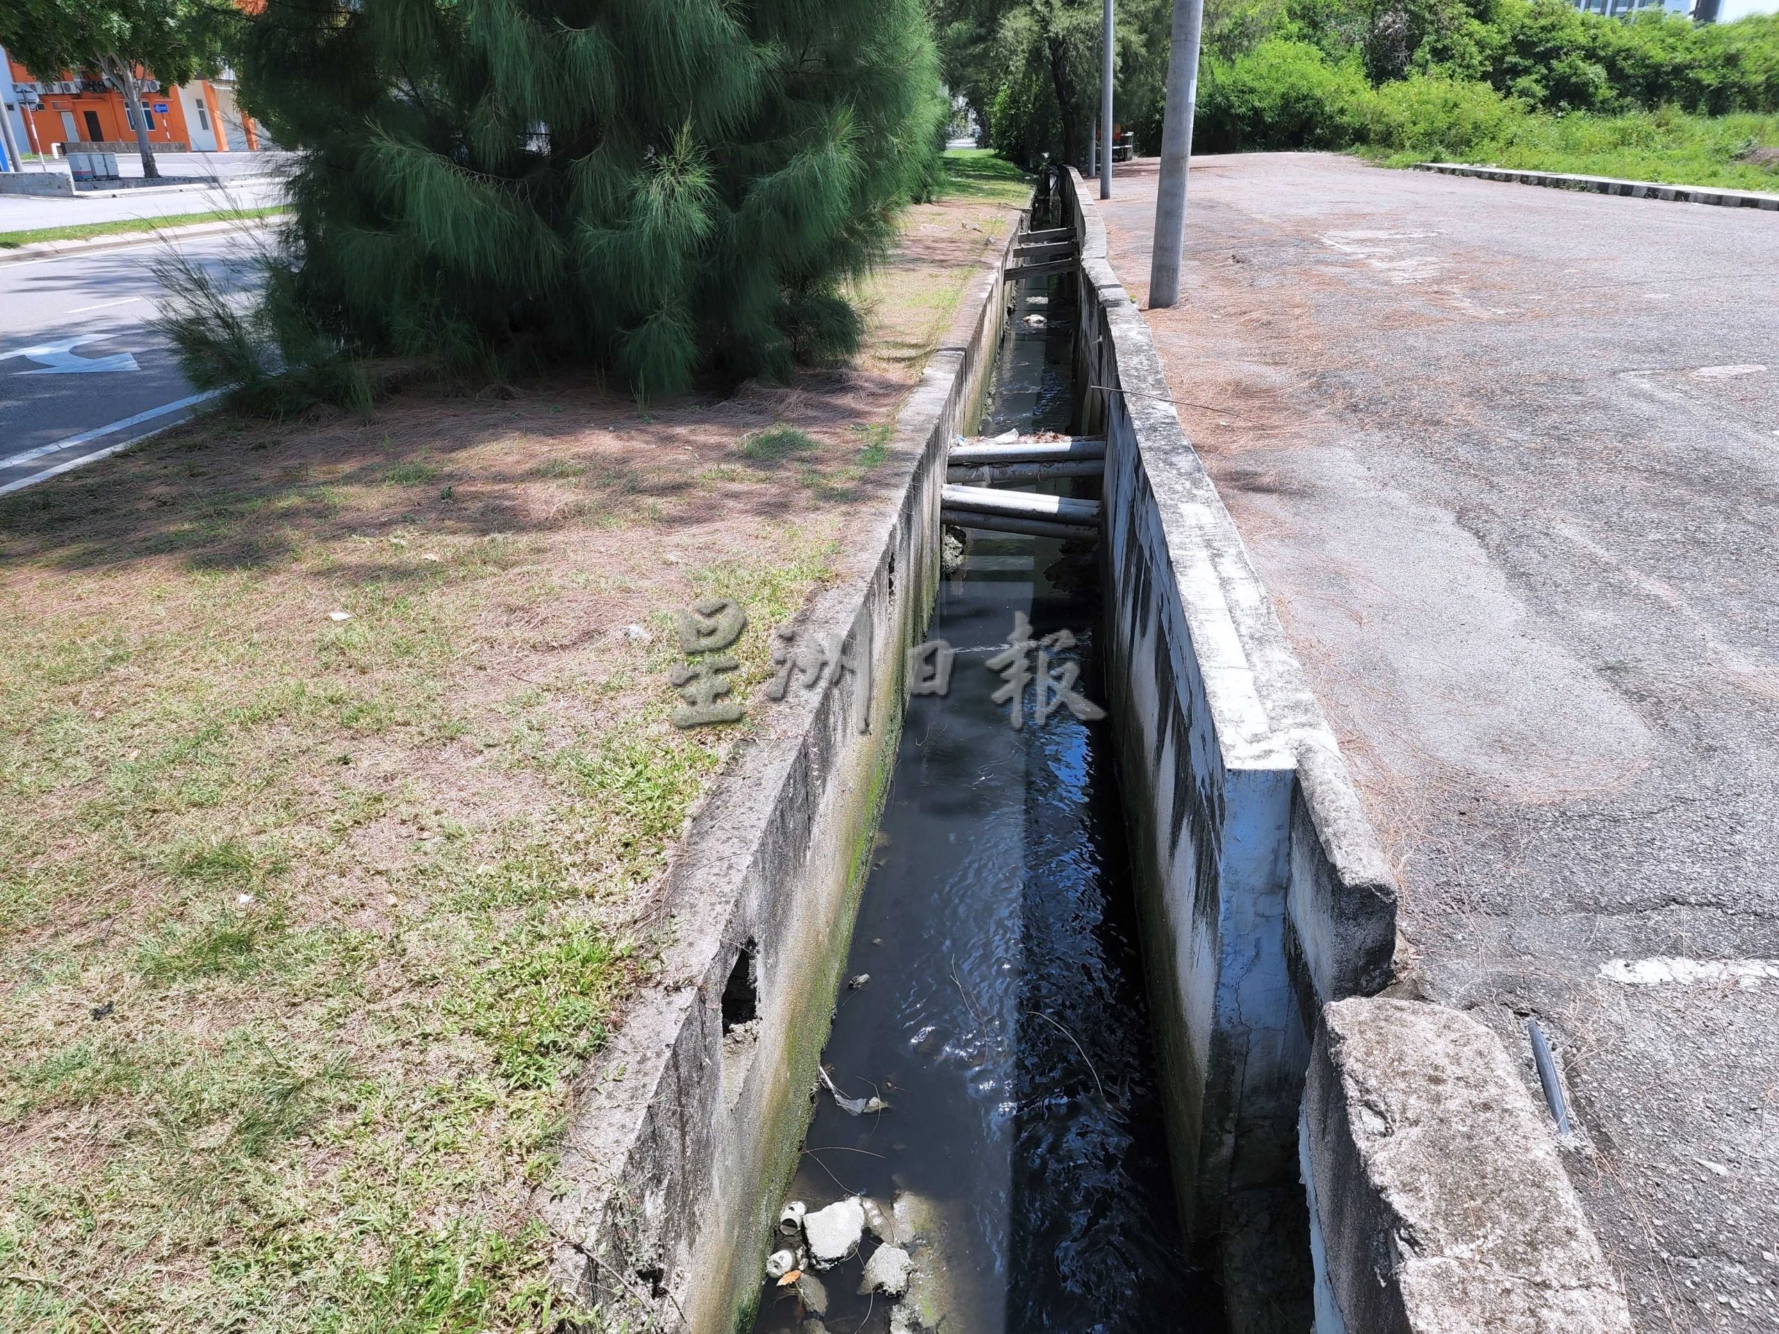
<svg viewBox="0 0 1779 1334"><path fill-rule="evenodd" d="M1325 1001L1389 982L1395 880L1105 224L1073 171L1060 187L1082 244L1076 356L1098 386L1083 418L1107 436L1107 679L1181 1213L1245 1286L1297 1282L1309 1033ZM1300 1306L1308 1323L1306 1281Z"/></svg>

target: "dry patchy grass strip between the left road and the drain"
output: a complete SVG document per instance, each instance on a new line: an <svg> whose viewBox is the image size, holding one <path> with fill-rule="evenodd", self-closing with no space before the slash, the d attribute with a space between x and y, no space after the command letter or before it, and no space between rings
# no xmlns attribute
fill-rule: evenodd
<svg viewBox="0 0 1779 1334"><path fill-rule="evenodd" d="M672 610L747 607L758 713L1009 189L911 212L847 372L208 418L0 505L0 1329L560 1314L528 1193L749 727L669 726Z"/></svg>

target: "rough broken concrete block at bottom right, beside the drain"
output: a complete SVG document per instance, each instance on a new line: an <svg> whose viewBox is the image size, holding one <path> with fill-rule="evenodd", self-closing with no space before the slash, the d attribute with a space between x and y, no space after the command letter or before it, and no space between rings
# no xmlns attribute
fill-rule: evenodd
<svg viewBox="0 0 1779 1334"><path fill-rule="evenodd" d="M1457 1010L1322 1010L1300 1151L1316 1334L1630 1334L1512 1057Z"/></svg>

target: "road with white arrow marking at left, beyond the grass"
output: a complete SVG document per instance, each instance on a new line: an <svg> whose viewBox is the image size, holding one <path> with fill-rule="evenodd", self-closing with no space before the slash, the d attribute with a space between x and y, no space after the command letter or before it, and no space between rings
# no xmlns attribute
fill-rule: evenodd
<svg viewBox="0 0 1779 1334"><path fill-rule="evenodd" d="M0 494L66 471L192 411L157 327L153 263L173 242L0 261ZM237 235L181 253L231 265Z"/></svg>

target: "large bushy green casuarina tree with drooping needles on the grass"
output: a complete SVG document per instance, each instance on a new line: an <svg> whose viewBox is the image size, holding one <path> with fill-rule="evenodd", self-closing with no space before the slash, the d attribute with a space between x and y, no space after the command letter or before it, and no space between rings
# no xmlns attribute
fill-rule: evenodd
<svg viewBox="0 0 1779 1334"><path fill-rule="evenodd" d="M582 363L639 395L847 354L843 283L946 112L920 0L265 0L240 78L299 155L283 366ZM244 379L233 318L233 366L174 320L199 379Z"/></svg>

